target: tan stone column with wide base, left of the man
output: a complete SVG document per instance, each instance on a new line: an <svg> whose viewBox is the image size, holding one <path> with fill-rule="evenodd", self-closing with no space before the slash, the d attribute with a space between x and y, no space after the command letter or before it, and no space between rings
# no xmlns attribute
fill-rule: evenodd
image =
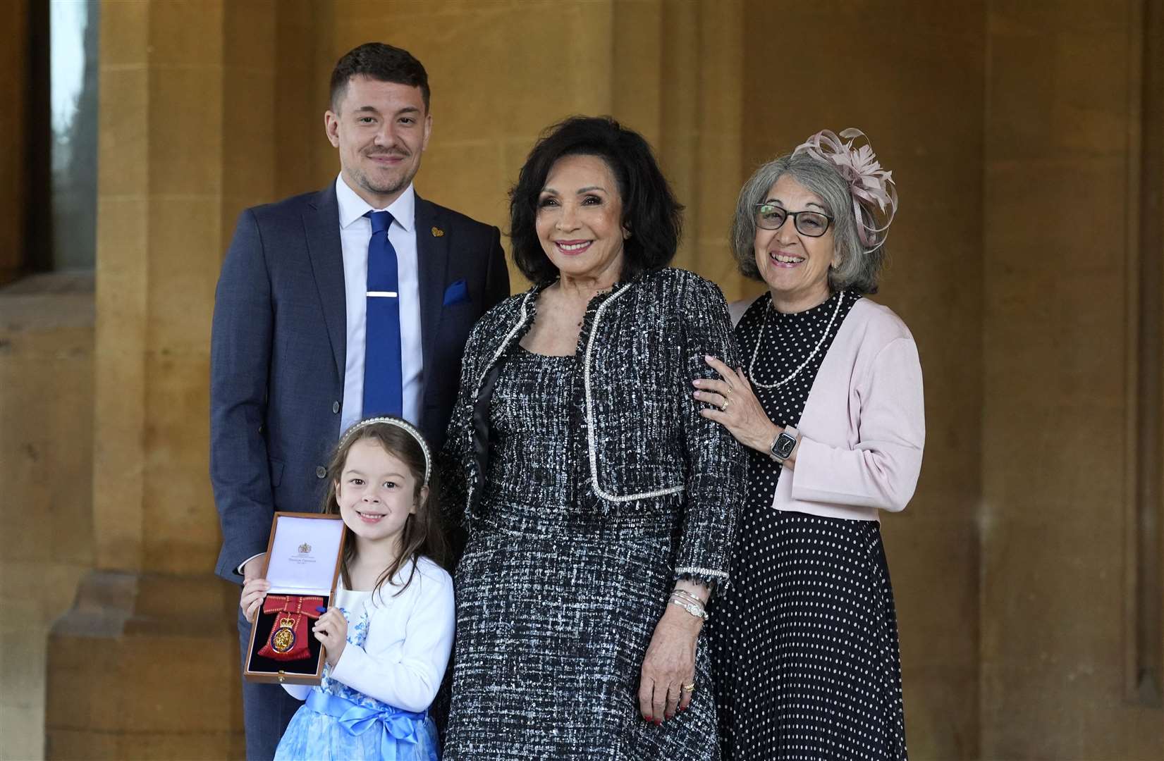
<svg viewBox="0 0 1164 761"><path fill-rule="evenodd" d="M50 758L242 755L208 346L237 212L271 198L275 20L270 0L101 8L95 569L49 639Z"/></svg>

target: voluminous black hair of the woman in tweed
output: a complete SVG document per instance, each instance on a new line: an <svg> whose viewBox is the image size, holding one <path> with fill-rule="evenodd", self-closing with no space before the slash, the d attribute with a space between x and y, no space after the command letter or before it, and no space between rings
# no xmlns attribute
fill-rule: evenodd
<svg viewBox="0 0 1164 761"><path fill-rule="evenodd" d="M597 156L618 183L623 227L631 233L623 244L620 279L667 266L679 248L683 206L675 200L651 145L610 116L572 116L542 133L510 190L510 239L513 263L521 273L541 285L558 277L558 268L538 239L538 197L554 162L565 156Z"/></svg>

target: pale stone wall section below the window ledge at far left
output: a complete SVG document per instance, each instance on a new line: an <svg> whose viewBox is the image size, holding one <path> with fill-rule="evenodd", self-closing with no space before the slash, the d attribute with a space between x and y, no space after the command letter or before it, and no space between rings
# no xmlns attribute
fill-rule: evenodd
<svg viewBox="0 0 1164 761"><path fill-rule="evenodd" d="M44 748L47 635L93 566L93 277L0 289L0 759Z"/></svg>

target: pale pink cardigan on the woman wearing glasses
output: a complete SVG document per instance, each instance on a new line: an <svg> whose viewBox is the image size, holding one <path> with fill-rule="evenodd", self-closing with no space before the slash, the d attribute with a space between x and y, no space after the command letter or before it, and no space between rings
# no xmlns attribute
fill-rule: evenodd
<svg viewBox="0 0 1164 761"><path fill-rule="evenodd" d="M732 304L733 321L752 300ZM853 305L797 429L796 464L780 474L774 510L856 520L904 510L922 469L925 412L917 346L892 310L867 298Z"/></svg>

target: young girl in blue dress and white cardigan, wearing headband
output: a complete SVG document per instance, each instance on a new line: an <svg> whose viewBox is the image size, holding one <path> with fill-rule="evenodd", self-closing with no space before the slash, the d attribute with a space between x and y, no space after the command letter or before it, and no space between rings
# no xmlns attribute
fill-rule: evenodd
<svg viewBox="0 0 1164 761"><path fill-rule="evenodd" d="M284 689L306 703L276 759L436 761L427 714L453 646L453 581L439 527L436 474L424 438L398 418L352 426L328 465L325 512L343 518L342 584L313 625L327 666L319 687ZM241 605L254 620L270 584Z"/></svg>

